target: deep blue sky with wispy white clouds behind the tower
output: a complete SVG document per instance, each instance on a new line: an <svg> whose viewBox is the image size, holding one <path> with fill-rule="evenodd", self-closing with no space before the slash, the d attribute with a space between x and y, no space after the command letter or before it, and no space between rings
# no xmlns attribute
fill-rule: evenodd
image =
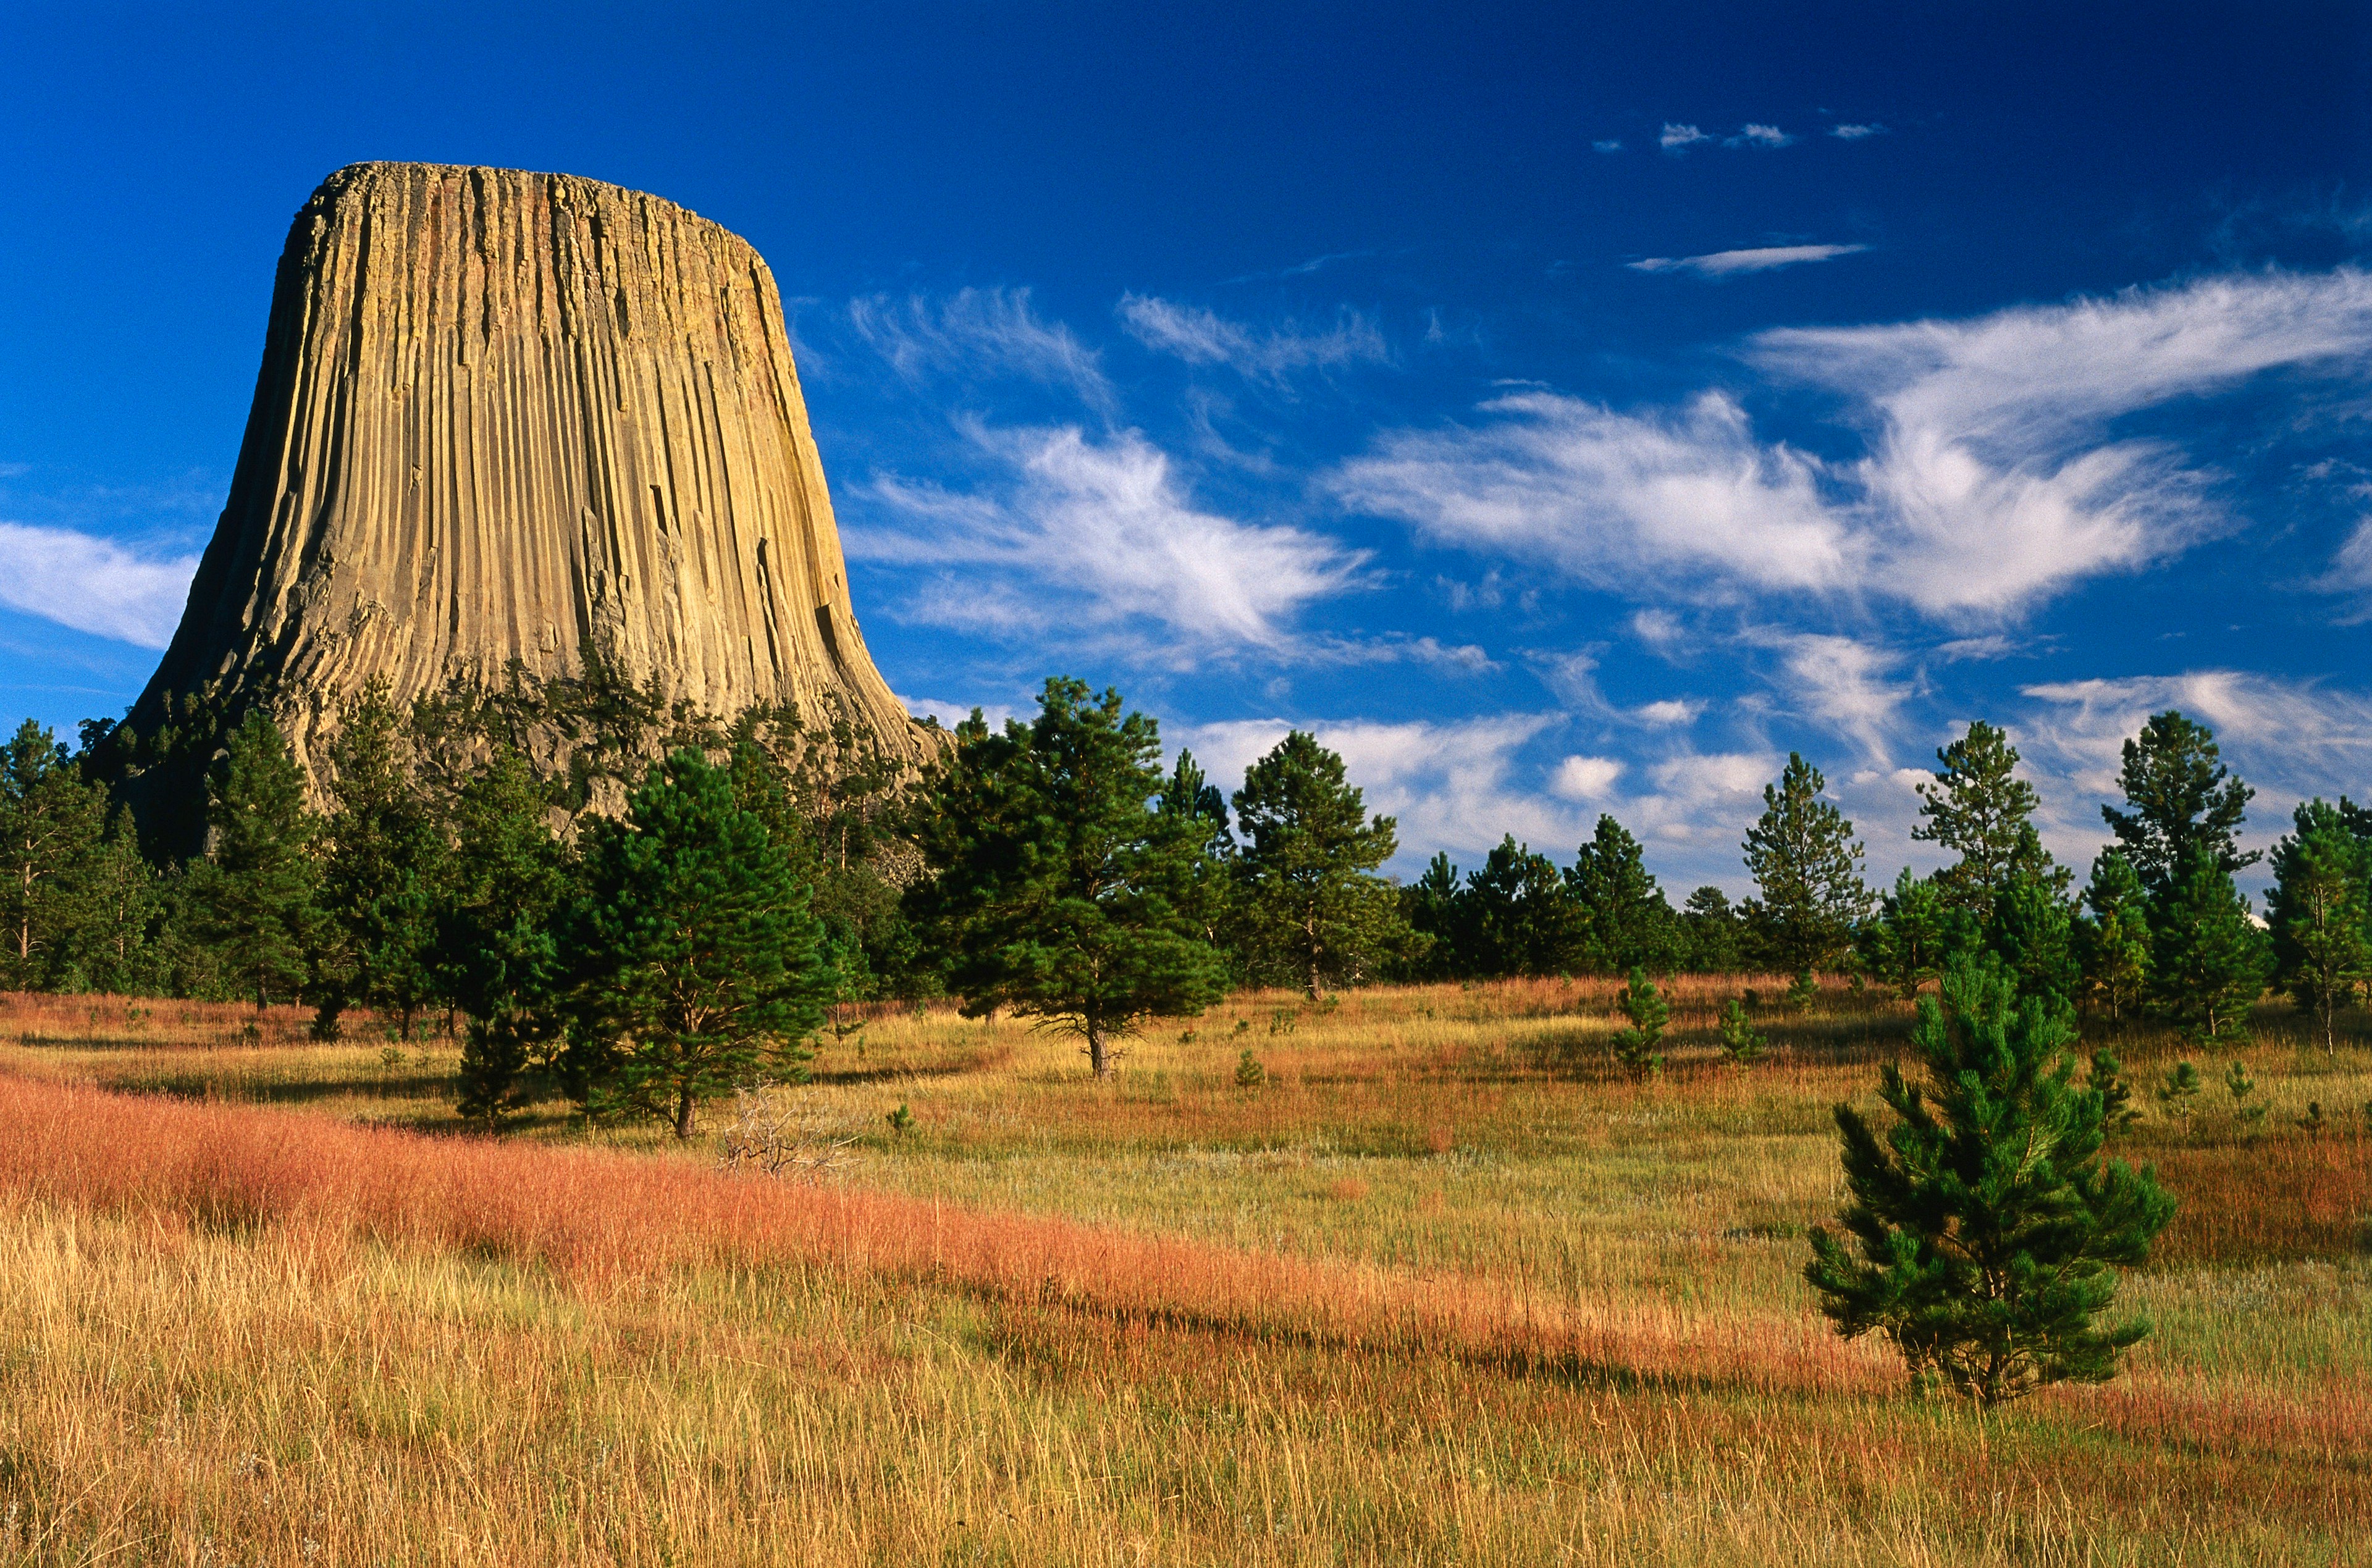
<svg viewBox="0 0 2372 1568"><path fill-rule="evenodd" d="M289 216L432 159L766 254L894 690L1314 728L1402 871L1736 892L1798 747L1883 880L1971 716L2078 863L2168 705L2372 792L2363 7L1494 9L21 5L0 707L130 702Z"/></svg>

